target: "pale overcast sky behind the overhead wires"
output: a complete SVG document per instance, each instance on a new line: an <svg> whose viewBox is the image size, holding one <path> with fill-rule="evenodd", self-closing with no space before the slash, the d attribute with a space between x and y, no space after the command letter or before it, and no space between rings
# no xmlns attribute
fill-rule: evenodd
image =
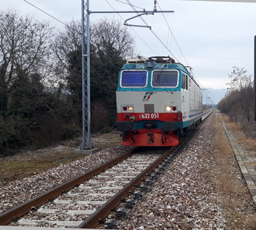
<svg viewBox="0 0 256 230"><path fill-rule="evenodd" d="M126 0L120 0L126 2ZM54 16L62 22L72 18L81 19L80 0L28 0L38 8ZM131 6L116 0L108 0L115 10L130 11ZM154 9L153 0L130 0L147 11ZM256 3L210 2L158 0L162 10L173 10L164 16L177 40L184 57L180 60L180 50L173 37L170 44L168 26L161 13L144 15L143 19L152 27L157 36L167 44L173 55L184 65L193 68L197 80L205 88L226 88L228 73L233 66L245 67L248 74L253 74L253 45L256 35ZM127 2L126 2L127 3ZM91 11L113 11L106 0L90 0ZM14 7L22 15L30 12L39 20L49 20L56 27L63 25L23 0L1 0L0 9ZM136 8L140 10L139 8ZM160 10L157 6L157 10ZM121 19L118 14L91 14L96 20L103 16ZM121 14L124 19L136 14ZM140 18L129 21L130 24L144 25ZM148 28L132 27L152 50L135 34L138 51L144 56L172 56L157 40Z"/></svg>

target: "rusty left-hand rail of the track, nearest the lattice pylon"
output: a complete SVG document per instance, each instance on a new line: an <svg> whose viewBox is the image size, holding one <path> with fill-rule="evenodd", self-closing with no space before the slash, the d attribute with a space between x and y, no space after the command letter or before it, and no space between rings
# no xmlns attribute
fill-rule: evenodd
<svg viewBox="0 0 256 230"><path fill-rule="evenodd" d="M0 226L9 224L13 219L23 216L29 211L31 211L32 207L40 206L48 202L53 197L61 195L65 190L74 188L76 185L81 184L85 180L92 178L93 176L95 176L95 174L101 173L102 171L108 169L108 167L115 165L116 163L120 162L121 160L124 160L127 157L130 157L131 155L140 150L141 147L137 147L129 152L120 155L119 157L114 158L111 161L104 163L103 165L100 165L94 169L89 170L86 173L81 174L78 177L75 177L69 181L64 182L63 184L60 184L57 187L52 188L45 193L37 195L36 197L24 203L21 203L14 208L4 211L2 214L0 214Z"/></svg>

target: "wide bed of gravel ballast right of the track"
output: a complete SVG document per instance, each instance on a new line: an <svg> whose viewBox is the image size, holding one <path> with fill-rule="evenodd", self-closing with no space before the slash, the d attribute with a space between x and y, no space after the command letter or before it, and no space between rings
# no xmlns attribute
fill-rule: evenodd
<svg viewBox="0 0 256 230"><path fill-rule="evenodd" d="M127 218L124 217L119 229L234 229L225 219L229 210L221 203L222 192L218 189L218 178L222 175L214 161L217 152L214 147L215 117L213 114L198 128L182 152L151 186L151 191L141 198ZM236 169L234 174L241 179L239 167ZM247 190L244 180L236 183ZM240 211L243 210L240 207Z"/></svg>

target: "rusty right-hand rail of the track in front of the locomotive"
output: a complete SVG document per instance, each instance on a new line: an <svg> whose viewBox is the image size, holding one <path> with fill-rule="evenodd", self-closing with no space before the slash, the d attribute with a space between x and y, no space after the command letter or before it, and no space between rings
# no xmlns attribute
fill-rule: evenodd
<svg viewBox="0 0 256 230"><path fill-rule="evenodd" d="M130 183L128 183L124 188L122 188L116 195L111 197L105 204L103 204L99 209L97 209L92 215L90 215L86 220L84 220L76 228L95 228L100 224L100 219L105 218L111 212L113 207L118 206L121 203L121 199L129 195L129 191L136 188L136 185L141 183L141 179L145 179L147 174L151 173L152 170L159 165L164 158L166 158L176 146L172 146L163 155L158 157L151 165L144 169L137 177L135 177Z"/></svg>

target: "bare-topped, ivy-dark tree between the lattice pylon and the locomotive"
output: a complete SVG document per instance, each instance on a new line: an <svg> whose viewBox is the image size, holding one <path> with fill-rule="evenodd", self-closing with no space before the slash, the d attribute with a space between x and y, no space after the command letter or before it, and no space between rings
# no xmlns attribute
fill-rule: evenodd
<svg viewBox="0 0 256 230"><path fill-rule="evenodd" d="M135 38L120 20L103 17L92 23L92 100L107 102L116 113L118 72L127 58L136 56ZM94 81L94 82L93 82ZM98 84L98 82L100 84Z"/></svg>

